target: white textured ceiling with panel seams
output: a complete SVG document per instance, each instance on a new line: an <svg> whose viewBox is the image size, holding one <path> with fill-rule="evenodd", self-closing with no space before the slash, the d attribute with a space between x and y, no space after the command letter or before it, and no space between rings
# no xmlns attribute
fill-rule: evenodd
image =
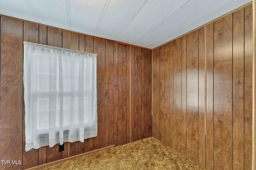
<svg viewBox="0 0 256 170"><path fill-rule="evenodd" d="M0 14L155 48L251 0L0 0Z"/></svg>

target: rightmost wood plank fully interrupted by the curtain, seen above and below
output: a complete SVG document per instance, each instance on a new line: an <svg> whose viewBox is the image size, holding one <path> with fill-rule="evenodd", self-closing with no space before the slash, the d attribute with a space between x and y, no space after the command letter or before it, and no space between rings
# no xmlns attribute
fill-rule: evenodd
<svg viewBox="0 0 256 170"><path fill-rule="evenodd" d="M94 53L94 39L91 36L85 35L85 52ZM93 150L93 138L85 139L85 152Z"/></svg>

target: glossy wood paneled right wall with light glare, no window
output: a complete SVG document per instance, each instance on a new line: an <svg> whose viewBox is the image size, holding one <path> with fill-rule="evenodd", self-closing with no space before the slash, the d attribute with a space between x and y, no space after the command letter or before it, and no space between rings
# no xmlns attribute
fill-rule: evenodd
<svg viewBox="0 0 256 170"><path fill-rule="evenodd" d="M252 5L152 51L152 136L206 169L251 169Z"/></svg>

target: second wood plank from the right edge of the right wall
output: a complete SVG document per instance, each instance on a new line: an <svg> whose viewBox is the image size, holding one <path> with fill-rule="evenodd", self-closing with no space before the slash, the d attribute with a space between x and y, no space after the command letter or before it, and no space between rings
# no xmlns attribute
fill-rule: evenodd
<svg viewBox="0 0 256 170"><path fill-rule="evenodd" d="M233 168L244 168L244 8L233 13Z"/></svg>

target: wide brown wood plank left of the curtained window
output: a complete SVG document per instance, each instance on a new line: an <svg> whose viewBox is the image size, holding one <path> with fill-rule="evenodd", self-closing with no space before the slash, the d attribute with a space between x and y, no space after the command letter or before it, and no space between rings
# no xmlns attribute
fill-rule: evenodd
<svg viewBox="0 0 256 170"><path fill-rule="evenodd" d="M0 158L22 161L22 24L1 16L0 31ZM1 164L22 169L22 164Z"/></svg>

